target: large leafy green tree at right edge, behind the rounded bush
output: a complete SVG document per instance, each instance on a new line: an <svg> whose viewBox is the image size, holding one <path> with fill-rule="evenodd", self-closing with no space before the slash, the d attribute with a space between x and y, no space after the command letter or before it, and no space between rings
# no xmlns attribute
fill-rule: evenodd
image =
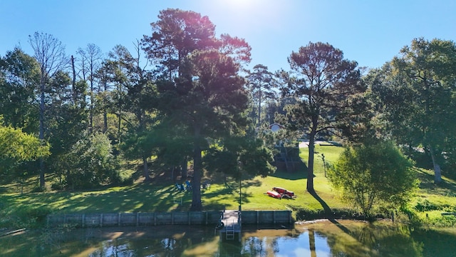
<svg viewBox="0 0 456 257"><path fill-rule="evenodd" d="M420 38L369 75L382 134L401 145L428 150L435 183L441 182L440 166L455 163L455 71L454 41Z"/></svg>

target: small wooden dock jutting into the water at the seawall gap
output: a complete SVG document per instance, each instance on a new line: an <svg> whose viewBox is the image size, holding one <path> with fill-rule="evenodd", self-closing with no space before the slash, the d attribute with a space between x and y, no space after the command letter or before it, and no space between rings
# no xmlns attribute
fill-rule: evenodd
<svg viewBox="0 0 456 257"><path fill-rule="evenodd" d="M233 240L237 238L239 242L242 239L241 230L241 211L227 210L222 212L220 221L224 224L220 229L220 240Z"/></svg>

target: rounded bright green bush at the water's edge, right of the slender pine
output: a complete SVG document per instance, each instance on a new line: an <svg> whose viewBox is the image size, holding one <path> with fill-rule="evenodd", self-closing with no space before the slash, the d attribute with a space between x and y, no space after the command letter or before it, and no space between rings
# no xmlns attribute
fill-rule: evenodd
<svg viewBox="0 0 456 257"><path fill-rule="evenodd" d="M344 151L328 171L331 184L366 216L375 205L405 206L418 182L409 161L393 143L353 146Z"/></svg>

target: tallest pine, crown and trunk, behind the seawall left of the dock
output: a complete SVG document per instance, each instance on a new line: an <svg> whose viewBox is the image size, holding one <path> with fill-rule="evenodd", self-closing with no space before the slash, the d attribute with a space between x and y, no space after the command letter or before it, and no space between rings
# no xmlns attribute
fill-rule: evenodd
<svg viewBox="0 0 456 257"><path fill-rule="evenodd" d="M210 141L223 142L247 126L248 99L239 68L249 61L250 46L227 34L217 39L214 24L192 11L161 11L151 26L152 36L142 44L158 64L157 109L165 124L191 138L191 208L201 210L202 151L212 147Z"/></svg>

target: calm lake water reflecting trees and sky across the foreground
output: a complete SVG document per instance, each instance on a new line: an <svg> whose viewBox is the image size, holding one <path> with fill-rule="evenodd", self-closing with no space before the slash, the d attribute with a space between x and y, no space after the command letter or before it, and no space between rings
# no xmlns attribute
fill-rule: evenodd
<svg viewBox="0 0 456 257"><path fill-rule="evenodd" d="M244 226L240 243L220 242L215 232L194 226L29 231L0 238L0 256L456 256L456 228L425 230L387 221Z"/></svg>

